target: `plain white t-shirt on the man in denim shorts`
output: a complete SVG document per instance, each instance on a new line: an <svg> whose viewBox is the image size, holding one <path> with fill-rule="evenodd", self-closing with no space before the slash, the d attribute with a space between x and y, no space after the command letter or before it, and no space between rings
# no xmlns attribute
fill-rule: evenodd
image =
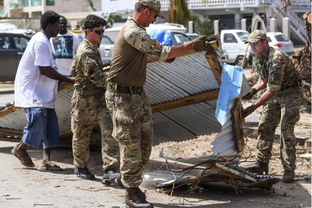
<svg viewBox="0 0 312 208"><path fill-rule="evenodd" d="M58 81L41 75L38 66L57 70L53 49L42 32L31 38L20 60L14 83L15 106L54 108Z"/></svg>

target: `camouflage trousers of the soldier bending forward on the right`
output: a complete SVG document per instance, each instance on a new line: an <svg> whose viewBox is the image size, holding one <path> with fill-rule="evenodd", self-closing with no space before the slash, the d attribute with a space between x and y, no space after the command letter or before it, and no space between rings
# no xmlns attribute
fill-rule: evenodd
<svg viewBox="0 0 312 208"><path fill-rule="evenodd" d="M277 91L273 98L263 105L258 128L258 161L269 163L275 129L281 122L280 155L282 165L285 170L295 170L296 138L293 128L300 119L300 103L301 96L298 88L290 87Z"/></svg>

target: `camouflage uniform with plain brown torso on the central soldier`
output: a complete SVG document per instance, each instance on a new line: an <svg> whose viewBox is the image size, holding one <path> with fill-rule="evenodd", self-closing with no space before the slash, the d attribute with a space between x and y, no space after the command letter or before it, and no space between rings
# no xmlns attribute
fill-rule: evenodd
<svg viewBox="0 0 312 208"><path fill-rule="evenodd" d="M143 85L147 56L166 61L171 48L162 46L137 21L128 18L115 41L105 93L119 142L120 172L125 187L138 187L153 144L153 116Z"/></svg>

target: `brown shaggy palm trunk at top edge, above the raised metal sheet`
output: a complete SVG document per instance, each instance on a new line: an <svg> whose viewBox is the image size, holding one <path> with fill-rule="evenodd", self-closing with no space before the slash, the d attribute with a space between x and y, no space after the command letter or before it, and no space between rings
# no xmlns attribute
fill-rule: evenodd
<svg viewBox="0 0 312 208"><path fill-rule="evenodd" d="M191 20L191 14L185 0L170 0L168 21L187 25Z"/></svg>

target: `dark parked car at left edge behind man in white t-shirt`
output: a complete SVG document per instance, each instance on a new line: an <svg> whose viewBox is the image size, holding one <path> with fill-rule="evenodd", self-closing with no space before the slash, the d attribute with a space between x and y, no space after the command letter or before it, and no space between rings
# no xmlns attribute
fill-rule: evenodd
<svg viewBox="0 0 312 208"><path fill-rule="evenodd" d="M15 33L0 33L0 81L14 81L20 59L30 38Z"/></svg>

